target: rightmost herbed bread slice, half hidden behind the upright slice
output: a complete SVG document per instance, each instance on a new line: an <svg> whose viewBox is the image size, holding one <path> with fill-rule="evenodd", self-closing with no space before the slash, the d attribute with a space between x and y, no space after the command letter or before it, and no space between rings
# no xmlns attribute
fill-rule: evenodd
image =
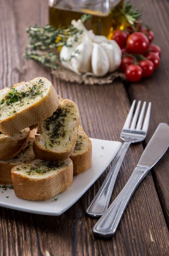
<svg viewBox="0 0 169 256"><path fill-rule="evenodd" d="M92 142L80 125L76 146L70 159L73 161L73 175L87 171L92 165Z"/></svg>

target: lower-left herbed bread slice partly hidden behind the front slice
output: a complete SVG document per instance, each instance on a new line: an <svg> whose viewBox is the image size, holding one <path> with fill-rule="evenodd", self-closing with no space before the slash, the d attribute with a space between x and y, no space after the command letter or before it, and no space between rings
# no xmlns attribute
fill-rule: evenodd
<svg viewBox="0 0 169 256"><path fill-rule="evenodd" d="M0 160L0 184L11 184L11 169L14 166L17 166L21 163L25 162L31 162L34 160L35 154L32 148L33 141L30 140L28 142L27 147L25 148L25 151L21 152L17 157L2 161Z"/></svg>

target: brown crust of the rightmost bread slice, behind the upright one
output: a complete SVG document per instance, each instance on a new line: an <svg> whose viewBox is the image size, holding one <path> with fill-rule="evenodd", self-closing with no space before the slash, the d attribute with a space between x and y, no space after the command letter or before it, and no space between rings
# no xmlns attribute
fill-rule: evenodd
<svg viewBox="0 0 169 256"><path fill-rule="evenodd" d="M84 152L73 152L70 159L73 161L73 176L87 171L92 165L92 143L89 137L85 134L83 128L79 125L79 129L84 137L86 137L89 147Z"/></svg>

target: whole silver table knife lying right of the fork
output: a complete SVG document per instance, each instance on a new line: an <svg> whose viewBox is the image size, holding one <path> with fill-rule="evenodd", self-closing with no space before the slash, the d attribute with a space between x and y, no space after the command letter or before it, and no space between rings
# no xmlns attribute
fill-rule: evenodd
<svg viewBox="0 0 169 256"><path fill-rule="evenodd" d="M146 146L130 179L104 215L102 215L93 227L94 235L102 237L110 237L114 235L133 193L149 170L158 162L158 160L160 160L168 147L169 125L161 123L158 125L158 128Z"/></svg>

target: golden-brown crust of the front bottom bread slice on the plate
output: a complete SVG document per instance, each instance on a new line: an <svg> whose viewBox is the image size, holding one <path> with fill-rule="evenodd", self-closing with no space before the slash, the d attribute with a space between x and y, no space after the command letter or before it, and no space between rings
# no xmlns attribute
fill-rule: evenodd
<svg viewBox="0 0 169 256"><path fill-rule="evenodd" d="M71 161L71 160L70 160ZM17 166L20 167L20 166ZM15 167L14 167L15 168ZM65 191L73 181L73 162L43 179L32 179L11 171L15 195L28 200L48 200Z"/></svg>

